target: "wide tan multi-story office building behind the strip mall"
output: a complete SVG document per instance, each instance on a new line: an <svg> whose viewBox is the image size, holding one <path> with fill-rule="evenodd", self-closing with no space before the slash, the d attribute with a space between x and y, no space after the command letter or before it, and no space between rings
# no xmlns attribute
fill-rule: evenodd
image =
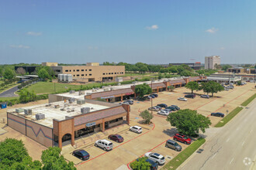
<svg viewBox="0 0 256 170"><path fill-rule="evenodd" d="M88 81L113 80L125 74L125 66L99 66L99 63L87 63L86 66L51 66L55 75L71 74L73 79Z"/></svg>

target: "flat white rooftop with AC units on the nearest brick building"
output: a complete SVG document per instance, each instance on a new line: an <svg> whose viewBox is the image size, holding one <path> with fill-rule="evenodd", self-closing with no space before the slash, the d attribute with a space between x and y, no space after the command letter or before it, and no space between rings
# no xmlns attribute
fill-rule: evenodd
<svg viewBox="0 0 256 170"><path fill-rule="evenodd" d="M55 108L55 105L59 105L59 108ZM95 110L103 110L106 108L109 108L110 106L103 106L99 104L91 104L85 101L85 104L77 104L76 101L74 101L72 104L70 104L68 101L64 103L64 101L58 101L50 104L40 104L40 105L34 105L31 107L22 107L22 109L32 109L31 115L26 115L24 111L21 113L16 113L16 109L10 109L7 112L16 114L22 117L25 117L26 119L30 121L34 121L38 124L43 124L44 126L53 128L53 119L57 119L58 121L62 121L66 119L67 117L74 117L76 115L81 114L81 108L82 107L90 107L90 112ZM63 109L64 110L61 110ZM70 111L74 110L74 111ZM45 118L42 120L36 120L36 114L44 114Z"/></svg>

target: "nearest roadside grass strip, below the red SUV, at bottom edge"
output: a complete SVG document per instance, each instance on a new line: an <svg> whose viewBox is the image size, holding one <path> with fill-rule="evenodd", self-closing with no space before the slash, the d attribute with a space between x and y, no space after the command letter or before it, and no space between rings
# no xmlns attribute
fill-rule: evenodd
<svg viewBox="0 0 256 170"><path fill-rule="evenodd" d="M168 162L162 169L176 169L179 165L182 165L183 162L187 158L189 158L190 155L192 155L202 144L206 142L206 139L199 138L198 140L194 141L191 145L189 145L188 148L185 148L181 153L179 153L175 158L172 158L170 162ZM178 161L177 161L178 160ZM172 168L170 168L172 167Z"/></svg>

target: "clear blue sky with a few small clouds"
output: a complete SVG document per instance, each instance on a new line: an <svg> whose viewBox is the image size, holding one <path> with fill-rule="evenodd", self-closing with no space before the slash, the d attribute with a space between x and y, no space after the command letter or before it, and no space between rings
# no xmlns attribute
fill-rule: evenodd
<svg viewBox="0 0 256 170"><path fill-rule="evenodd" d="M256 63L254 0L0 0L0 64Z"/></svg>

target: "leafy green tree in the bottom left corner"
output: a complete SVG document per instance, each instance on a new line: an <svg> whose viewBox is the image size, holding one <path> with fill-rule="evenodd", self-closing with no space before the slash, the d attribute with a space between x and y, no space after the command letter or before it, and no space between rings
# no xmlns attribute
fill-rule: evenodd
<svg viewBox="0 0 256 170"><path fill-rule="evenodd" d="M0 169L40 169L42 164L29 156L21 140L5 138L0 142Z"/></svg>

